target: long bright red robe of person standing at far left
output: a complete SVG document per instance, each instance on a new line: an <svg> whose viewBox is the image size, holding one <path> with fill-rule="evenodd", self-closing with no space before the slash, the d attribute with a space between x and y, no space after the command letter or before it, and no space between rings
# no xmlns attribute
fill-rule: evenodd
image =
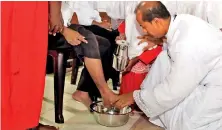
<svg viewBox="0 0 222 130"><path fill-rule="evenodd" d="M1 2L2 130L38 125L48 45L48 2Z"/></svg>

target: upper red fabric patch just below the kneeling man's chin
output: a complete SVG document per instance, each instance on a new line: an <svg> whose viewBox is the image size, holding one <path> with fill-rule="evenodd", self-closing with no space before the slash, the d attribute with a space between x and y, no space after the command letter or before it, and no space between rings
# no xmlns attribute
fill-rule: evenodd
<svg viewBox="0 0 222 130"><path fill-rule="evenodd" d="M160 54L162 51L162 47L158 46L157 48L153 50L148 50L143 52L140 56L139 59L142 61L144 64L148 65L150 62L152 62L156 57Z"/></svg>

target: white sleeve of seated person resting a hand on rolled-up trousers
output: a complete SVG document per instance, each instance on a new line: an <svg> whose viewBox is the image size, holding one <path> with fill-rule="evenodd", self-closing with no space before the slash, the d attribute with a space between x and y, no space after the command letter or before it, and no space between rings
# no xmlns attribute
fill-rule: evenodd
<svg viewBox="0 0 222 130"><path fill-rule="evenodd" d="M61 12L64 20L64 26L66 27L69 26L70 21L72 20L74 3L75 2L72 1L62 2Z"/></svg>

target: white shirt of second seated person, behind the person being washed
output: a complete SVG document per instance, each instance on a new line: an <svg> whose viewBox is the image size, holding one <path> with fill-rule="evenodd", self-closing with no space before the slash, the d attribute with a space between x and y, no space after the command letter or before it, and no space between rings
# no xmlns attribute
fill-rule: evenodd
<svg viewBox="0 0 222 130"><path fill-rule="evenodd" d="M78 22L81 25L89 26L93 20L101 22L99 12L95 10L88 2L75 2L75 12L78 17Z"/></svg>

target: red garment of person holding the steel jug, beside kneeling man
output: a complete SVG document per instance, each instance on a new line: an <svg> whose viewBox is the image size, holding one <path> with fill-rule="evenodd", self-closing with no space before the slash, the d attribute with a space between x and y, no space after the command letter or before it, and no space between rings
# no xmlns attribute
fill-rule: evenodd
<svg viewBox="0 0 222 130"><path fill-rule="evenodd" d="M157 48L145 51L140 56L139 59L144 65L149 65L159 53L162 51L162 47L158 46ZM138 68L139 71L139 68ZM143 80L145 79L147 72L144 73L135 73L130 71L129 73L122 76L122 83L120 86L120 94L130 93L135 90L140 89L140 85L142 84Z"/></svg>

